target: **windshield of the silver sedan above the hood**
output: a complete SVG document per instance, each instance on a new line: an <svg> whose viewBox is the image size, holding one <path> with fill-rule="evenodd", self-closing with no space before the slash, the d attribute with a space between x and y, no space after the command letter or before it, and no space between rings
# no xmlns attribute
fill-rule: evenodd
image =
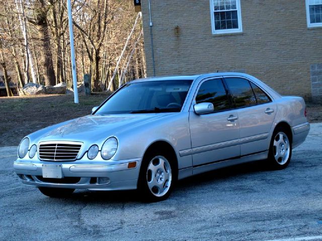
<svg viewBox="0 0 322 241"><path fill-rule="evenodd" d="M128 83L96 114L179 112L191 83L192 80Z"/></svg>

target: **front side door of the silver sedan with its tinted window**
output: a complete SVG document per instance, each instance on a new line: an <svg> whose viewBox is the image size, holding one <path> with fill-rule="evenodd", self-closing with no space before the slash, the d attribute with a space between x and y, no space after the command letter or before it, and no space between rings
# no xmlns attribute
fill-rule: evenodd
<svg viewBox="0 0 322 241"><path fill-rule="evenodd" d="M211 102L214 112L198 115L196 103ZM203 80L195 93L189 112L193 166L239 157L239 121L231 109L222 78Z"/></svg>

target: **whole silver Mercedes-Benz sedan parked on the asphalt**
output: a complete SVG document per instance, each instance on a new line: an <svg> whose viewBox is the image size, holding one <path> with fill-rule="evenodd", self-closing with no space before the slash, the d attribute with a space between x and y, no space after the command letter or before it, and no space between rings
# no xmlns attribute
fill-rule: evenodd
<svg viewBox="0 0 322 241"><path fill-rule="evenodd" d="M303 98L247 74L139 79L92 114L25 137L14 169L50 197L138 189L159 201L206 171L256 160L283 169L309 129Z"/></svg>

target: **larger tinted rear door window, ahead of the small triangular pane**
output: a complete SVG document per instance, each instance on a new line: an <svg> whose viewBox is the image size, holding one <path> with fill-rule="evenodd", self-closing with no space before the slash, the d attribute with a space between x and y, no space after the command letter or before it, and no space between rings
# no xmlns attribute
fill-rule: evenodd
<svg viewBox="0 0 322 241"><path fill-rule="evenodd" d="M257 104L253 89L247 79L225 78L235 106L246 107Z"/></svg>

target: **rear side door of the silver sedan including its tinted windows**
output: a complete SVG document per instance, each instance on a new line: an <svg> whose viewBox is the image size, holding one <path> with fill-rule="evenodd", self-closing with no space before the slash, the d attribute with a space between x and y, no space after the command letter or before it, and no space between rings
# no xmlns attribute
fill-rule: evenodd
<svg viewBox="0 0 322 241"><path fill-rule="evenodd" d="M276 104L259 86L246 78L225 77L225 82L238 113L240 155L267 151Z"/></svg>

